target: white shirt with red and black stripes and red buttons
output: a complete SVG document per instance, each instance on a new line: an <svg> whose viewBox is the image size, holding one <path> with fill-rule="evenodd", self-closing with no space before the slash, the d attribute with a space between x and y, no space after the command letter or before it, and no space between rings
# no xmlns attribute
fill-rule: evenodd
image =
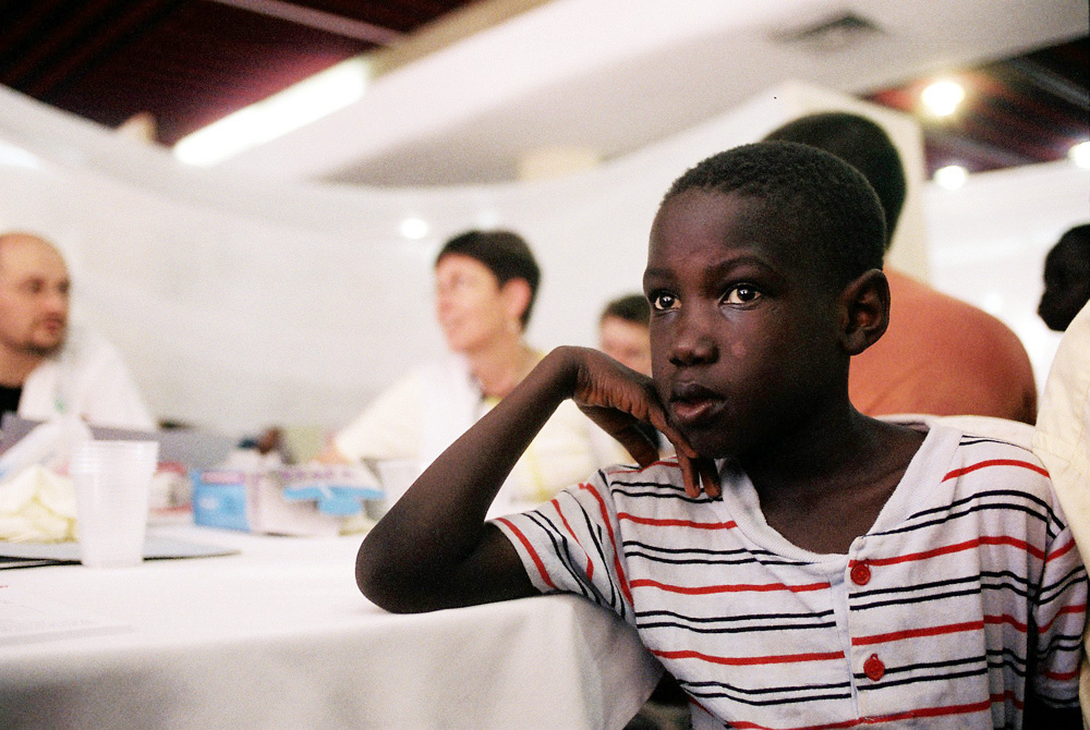
<svg viewBox="0 0 1090 730"><path fill-rule="evenodd" d="M932 425L848 555L788 543L719 470L722 500L663 462L497 521L538 589L637 628L694 728L1019 728L1027 673L1077 705L1086 570L1029 451Z"/></svg>

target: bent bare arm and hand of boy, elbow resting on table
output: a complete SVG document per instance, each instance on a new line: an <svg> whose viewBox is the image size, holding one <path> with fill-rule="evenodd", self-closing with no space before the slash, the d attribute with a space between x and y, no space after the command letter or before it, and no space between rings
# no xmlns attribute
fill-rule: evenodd
<svg viewBox="0 0 1090 730"><path fill-rule="evenodd" d="M567 398L576 401L641 464L657 451L632 424L651 421L678 447L687 479L692 449L667 423L650 380L602 353L549 353L496 407L452 443L367 535L356 582L396 612L427 611L536 594L514 548L485 523L519 457Z"/></svg>

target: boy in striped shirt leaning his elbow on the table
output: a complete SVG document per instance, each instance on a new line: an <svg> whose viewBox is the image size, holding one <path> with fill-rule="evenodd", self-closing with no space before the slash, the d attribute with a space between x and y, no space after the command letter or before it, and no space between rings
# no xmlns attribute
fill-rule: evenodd
<svg viewBox="0 0 1090 730"><path fill-rule="evenodd" d="M1078 717L1087 581L1040 462L849 400L888 319L884 243L873 191L827 153L761 143L686 172L651 229L653 380L549 353L367 535L363 593L584 596L635 626L698 730L1067 727L1044 722ZM569 399L644 466L485 521Z"/></svg>

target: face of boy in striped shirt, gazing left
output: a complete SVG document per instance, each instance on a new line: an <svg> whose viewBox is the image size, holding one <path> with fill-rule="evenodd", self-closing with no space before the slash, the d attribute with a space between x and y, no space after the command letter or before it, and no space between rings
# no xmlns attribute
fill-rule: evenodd
<svg viewBox="0 0 1090 730"><path fill-rule="evenodd" d="M690 190L652 226L653 377L703 457L775 449L847 398L839 291L777 223L753 200Z"/></svg>

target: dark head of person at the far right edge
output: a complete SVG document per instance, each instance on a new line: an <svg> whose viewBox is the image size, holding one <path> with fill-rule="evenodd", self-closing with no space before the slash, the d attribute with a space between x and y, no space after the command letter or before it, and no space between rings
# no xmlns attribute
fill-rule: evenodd
<svg viewBox="0 0 1090 730"><path fill-rule="evenodd" d="M1044 259L1044 293L1038 315L1063 332L1090 302L1090 223L1076 226L1059 236Z"/></svg>

